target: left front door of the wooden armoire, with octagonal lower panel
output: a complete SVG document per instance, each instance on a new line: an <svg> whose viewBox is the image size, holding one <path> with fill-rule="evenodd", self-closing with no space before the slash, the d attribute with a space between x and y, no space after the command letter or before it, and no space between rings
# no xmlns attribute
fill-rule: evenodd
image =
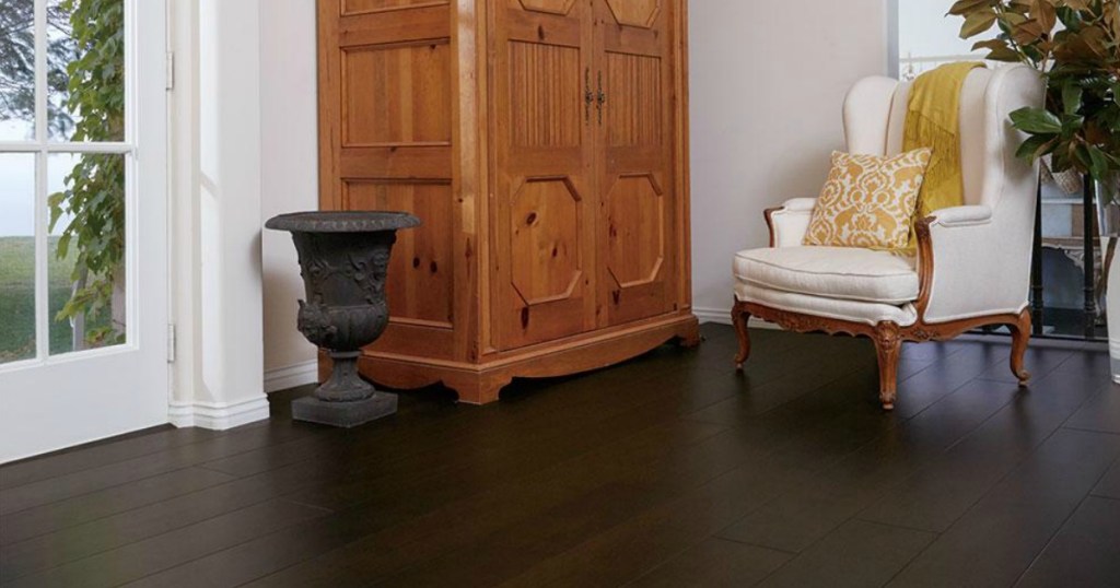
<svg viewBox="0 0 1120 588"><path fill-rule="evenodd" d="M492 228L495 346L595 327L590 7L501 0L495 18Z"/></svg>

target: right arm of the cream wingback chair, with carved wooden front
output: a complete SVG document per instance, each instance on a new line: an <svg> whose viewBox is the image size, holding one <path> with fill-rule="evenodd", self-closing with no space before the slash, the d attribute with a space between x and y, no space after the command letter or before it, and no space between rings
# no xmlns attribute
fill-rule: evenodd
<svg viewBox="0 0 1120 588"><path fill-rule="evenodd" d="M990 207L936 211L920 221L915 232L915 306L922 320L946 323L1021 310L1030 244L1004 230Z"/></svg>

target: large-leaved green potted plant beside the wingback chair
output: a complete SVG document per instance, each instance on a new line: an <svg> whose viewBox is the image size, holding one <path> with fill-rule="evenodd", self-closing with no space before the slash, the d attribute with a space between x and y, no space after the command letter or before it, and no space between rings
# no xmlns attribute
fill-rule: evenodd
<svg viewBox="0 0 1120 588"><path fill-rule="evenodd" d="M1043 108L1011 113L1027 139L1019 157L1048 158L1051 169L1095 184L1101 235L1120 233L1120 0L960 0L949 10L964 18L962 38L998 28L973 49L987 58L1028 64L1046 82ZM1085 227L1090 231L1091 227ZM1120 282L1116 255L1105 269ZM1110 352L1120 382L1120 283L1109 283Z"/></svg>

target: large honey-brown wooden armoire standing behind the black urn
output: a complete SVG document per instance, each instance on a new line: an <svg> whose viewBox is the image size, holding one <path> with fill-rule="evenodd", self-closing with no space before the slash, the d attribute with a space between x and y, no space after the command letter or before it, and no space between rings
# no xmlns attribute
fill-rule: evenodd
<svg viewBox="0 0 1120 588"><path fill-rule="evenodd" d="M318 6L321 208L424 223L363 375L487 403L699 342L687 0Z"/></svg>

